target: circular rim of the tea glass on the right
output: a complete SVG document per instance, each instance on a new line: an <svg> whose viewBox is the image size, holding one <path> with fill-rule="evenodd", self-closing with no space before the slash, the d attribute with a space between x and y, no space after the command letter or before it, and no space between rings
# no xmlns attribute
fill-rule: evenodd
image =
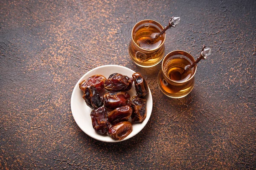
<svg viewBox="0 0 256 170"><path fill-rule="evenodd" d="M186 55L184 55L184 54L186 54ZM194 71L193 75L192 75L189 79L187 79L186 81L184 81L184 82L177 82L177 81L175 81L175 80L170 79L170 78L165 74L165 72L163 71L163 65L164 65L164 63L166 62L166 59L169 58L169 57L172 57L172 56L174 56L174 55L182 55L182 56L188 57L190 60L192 60L192 62L195 62L195 58L194 58L191 54L189 54L188 52L186 52L186 51L183 51L183 50L175 50L175 51L169 52L168 54L166 54L165 57L163 57L163 62L162 62L162 72L163 72L163 77L164 77L164 79L167 79L169 82L175 83L175 84L183 84L183 83L189 82L189 81L195 76L195 73L196 73L196 70L197 70L197 65L194 66L195 71ZM189 61L189 62L190 62L190 61ZM192 63L190 63L190 64L192 64ZM167 81L167 82L168 82L168 81Z"/></svg>

